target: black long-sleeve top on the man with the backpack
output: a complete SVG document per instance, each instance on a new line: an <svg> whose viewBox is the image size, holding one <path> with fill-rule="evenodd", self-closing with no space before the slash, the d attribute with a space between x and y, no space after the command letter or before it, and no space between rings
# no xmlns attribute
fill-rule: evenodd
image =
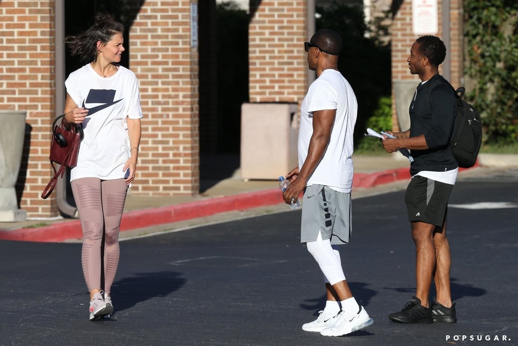
<svg viewBox="0 0 518 346"><path fill-rule="evenodd" d="M456 102L448 81L439 74L418 86L410 103L410 137L424 134L428 149L411 150L414 158L410 165L411 175L420 171L445 172L458 167L450 147Z"/></svg>

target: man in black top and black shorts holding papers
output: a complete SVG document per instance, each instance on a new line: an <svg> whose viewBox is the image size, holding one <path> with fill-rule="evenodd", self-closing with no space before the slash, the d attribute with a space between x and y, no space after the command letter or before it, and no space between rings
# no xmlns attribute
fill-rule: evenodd
<svg viewBox="0 0 518 346"><path fill-rule="evenodd" d="M416 293L402 311L389 314L390 320L401 323L457 321L446 238L448 199L458 173L450 148L456 100L453 88L439 75L445 56L446 47L438 37L422 36L414 42L407 62L421 83L410 103L410 129L390 132L396 139L382 141L387 152L410 149L414 159L405 202L416 249ZM429 307L432 277L437 296Z"/></svg>

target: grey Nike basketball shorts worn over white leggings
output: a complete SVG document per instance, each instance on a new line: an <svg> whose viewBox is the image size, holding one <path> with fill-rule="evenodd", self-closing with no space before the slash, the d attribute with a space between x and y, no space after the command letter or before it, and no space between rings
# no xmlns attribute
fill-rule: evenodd
<svg viewBox="0 0 518 346"><path fill-rule="evenodd" d="M302 203L300 242L322 239L331 244L349 243L351 237L351 193L338 192L324 185L306 188Z"/></svg>

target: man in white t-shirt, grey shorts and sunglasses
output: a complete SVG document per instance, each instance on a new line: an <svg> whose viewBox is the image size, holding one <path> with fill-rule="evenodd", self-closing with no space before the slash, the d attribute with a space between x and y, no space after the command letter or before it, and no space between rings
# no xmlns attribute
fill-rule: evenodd
<svg viewBox="0 0 518 346"><path fill-rule="evenodd" d="M373 323L353 297L336 245L351 235L351 186L356 96L338 71L340 35L319 30L305 43L308 66L316 72L300 107L298 167L286 175L291 184L283 193L286 203L304 191L300 241L319 264L327 301L318 318L303 330L341 336Z"/></svg>

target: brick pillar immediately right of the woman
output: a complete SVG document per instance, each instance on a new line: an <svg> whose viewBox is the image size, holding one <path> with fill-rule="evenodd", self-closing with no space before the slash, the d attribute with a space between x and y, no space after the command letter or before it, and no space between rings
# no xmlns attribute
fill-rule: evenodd
<svg viewBox="0 0 518 346"><path fill-rule="evenodd" d="M199 190L198 52L190 4L145 1L130 29L130 68L140 81L142 140L135 195Z"/></svg>

